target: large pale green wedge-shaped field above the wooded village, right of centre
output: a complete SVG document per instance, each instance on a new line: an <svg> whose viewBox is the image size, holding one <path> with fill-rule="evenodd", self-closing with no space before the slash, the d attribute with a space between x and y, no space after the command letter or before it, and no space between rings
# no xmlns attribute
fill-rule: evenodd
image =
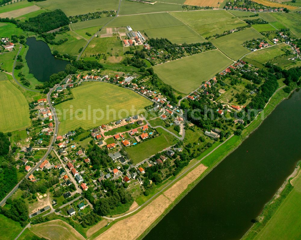
<svg viewBox="0 0 301 240"><path fill-rule="evenodd" d="M190 93L231 63L219 50L212 50L154 66L154 71L175 90Z"/></svg>

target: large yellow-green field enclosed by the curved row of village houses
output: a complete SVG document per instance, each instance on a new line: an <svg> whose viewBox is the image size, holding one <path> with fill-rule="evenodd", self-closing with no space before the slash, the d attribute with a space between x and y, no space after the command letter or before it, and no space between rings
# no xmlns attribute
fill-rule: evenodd
<svg viewBox="0 0 301 240"><path fill-rule="evenodd" d="M66 117L63 115L59 116L61 122L59 134L66 133L79 126L88 129L122 117L127 117L132 115L132 113L129 112L132 106L135 107L136 111L141 111L141 109L144 110L145 106L152 104L150 100L147 100L131 90L101 82L84 83L83 86L73 89L72 93L74 99L56 106L57 111L61 113L64 112L64 109L67 109ZM73 114L70 116L71 105L73 106ZM88 115L89 108L91 109L90 117ZM111 111L107 111L107 108ZM96 120L94 120L94 109L104 111L103 115L100 112L96 113L95 116L98 117L99 120L96 118ZM125 111L120 111L119 113L121 109ZM78 116L77 119L75 114Z"/></svg>

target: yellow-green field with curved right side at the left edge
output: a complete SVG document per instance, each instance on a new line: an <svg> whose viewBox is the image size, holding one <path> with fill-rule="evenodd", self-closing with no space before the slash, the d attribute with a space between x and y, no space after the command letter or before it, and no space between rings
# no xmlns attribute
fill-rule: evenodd
<svg viewBox="0 0 301 240"><path fill-rule="evenodd" d="M24 95L6 79L6 74L0 73L0 131L12 132L29 127L31 121Z"/></svg>

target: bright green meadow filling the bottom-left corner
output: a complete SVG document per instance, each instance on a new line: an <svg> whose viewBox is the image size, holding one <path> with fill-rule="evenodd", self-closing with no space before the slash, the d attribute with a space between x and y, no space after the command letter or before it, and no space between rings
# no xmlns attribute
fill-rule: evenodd
<svg viewBox="0 0 301 240"><path fill-rule="evenodd" d="M2 214L0 214L0 228L2 240L14 239L23 229L20 223L15 222Z"/></svg>

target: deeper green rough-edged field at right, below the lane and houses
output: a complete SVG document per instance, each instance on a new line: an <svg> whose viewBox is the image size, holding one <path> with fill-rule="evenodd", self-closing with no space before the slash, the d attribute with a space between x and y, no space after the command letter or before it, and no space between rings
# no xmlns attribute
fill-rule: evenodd
<svg viewBox="0 0 301 240"><path fill-rule="evenodd" d="M243 59L259 68L262 68L262 64L273 60L279 55L285 54L283 50L290 49L290 46L286 44L278 44L273 47L261 49L259 51L252 52L245 56ZM286 58L289 58L288 56Z"/></svg>

